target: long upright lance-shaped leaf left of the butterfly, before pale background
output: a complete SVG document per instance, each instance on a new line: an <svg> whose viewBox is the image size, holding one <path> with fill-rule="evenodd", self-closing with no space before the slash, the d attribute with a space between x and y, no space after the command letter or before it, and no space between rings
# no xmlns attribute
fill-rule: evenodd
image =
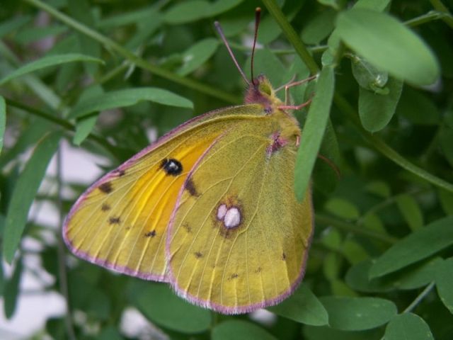
<svg viewBox="0 0 453 340"><path fill-rule="evenodd" d="M61 137L60 133L54 132L42 138L37 147L35 147L35 151L25 165L13 189L6 215L3 243L3 254L8 263L13 260L14 253L19 242L21 242L22 233L28 218L28 210L30 210L33 199L38 193L47 165L57 151Z"/></svg>

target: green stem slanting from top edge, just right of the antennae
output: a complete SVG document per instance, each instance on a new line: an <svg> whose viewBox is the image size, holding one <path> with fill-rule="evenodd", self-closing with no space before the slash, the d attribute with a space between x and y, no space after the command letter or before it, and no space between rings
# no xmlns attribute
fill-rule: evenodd
<svg viewBox="0 0 453 340"><path fill-rule="evenodd" d="M310 73L317 74L319 72L318 64L316 64L313 57L311 57L309 50L305 47L302 40L300 40L299 35L297 35L294 28L292 28L291 24L287 21L285 14L280 7L277 6L275 0L263 0L263 4L268 8L269 13L274 17L275 21L277 21L280 28L282 28L287 40L291 42L294 50L296 50L299 57L301 57L302 61L306 64Z"/></svg>

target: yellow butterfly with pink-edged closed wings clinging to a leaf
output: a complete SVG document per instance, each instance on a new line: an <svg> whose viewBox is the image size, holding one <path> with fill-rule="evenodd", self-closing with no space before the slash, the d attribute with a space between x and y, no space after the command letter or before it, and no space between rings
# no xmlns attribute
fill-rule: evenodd
<svg viewBox="0 0 453 340"><path fill-rule="evenodd" d="M300 106L263 75L247 82L243 105L183 123L93 183L64 222L69 249L224 314L288 297L314 229L311 193L299 202L293 185Z"/></svg>

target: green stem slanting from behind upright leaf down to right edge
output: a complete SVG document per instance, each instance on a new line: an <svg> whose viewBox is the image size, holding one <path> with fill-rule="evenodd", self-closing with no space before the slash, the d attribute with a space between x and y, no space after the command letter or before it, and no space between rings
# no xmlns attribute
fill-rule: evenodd
<svg viewBox="0 0 453 340"><path fill-rule="evenodd" d="M421 179L425 179L425 181L428 181L429 183L432 183L439 188L443 188L453 193L452 183L440 179L439 177L430 174L428 171L416 166L415 164L412 164L406 158L401 156L401 154L398 154L398 152L389 147L389 145L386 145L386 143L379 137L377 137L377 135L372 135L367 130L362 128L362 124L360 123L357 112L355 112L355 109L352 108L350 103L348 103L348 101L346 101L346 99L343 96L341 96L340 94L335 94L333 101L334 103L336 103L336 106L340 109L340 111L343 111L349 116L349 118L352 120L352 123L354 123L355 126L360 130L362 137L370 145L372 145L374 149L377 149L378 152L383 154L392 162L401 166L403 169L406 169L407 171L411 172L412 174L415 174Z"/></svg>

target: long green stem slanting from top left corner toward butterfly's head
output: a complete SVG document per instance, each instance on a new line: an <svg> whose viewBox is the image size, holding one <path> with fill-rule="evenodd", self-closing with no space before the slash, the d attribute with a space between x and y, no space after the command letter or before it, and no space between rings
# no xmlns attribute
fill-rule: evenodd
<svg viewBox="0 0 453 340"><path fill-rule="evenodd" d="M133 64L136 64L138 67L141 67L142 69L146 69L147 71L151 72L152 74L155 74L156 76L168 79L170 81L175 82L176 84L183 85L195 91L200 91L203 94L207 94L208 96L221 99L222 101L226 101L228 103L241 102L239 98L237 98L236 96L231 95L226 91L216 89L214 86L202 84L199 81L195 81L193 79L181 77L178 74L174 74L173 72L170 72L159 66L149 64L149 62L143 60L140 57L137 57L137 55L134 55L134 53L130 52L130 50L125 49L117 42L111 40L110 38L105 37L105 35L98 33L96 30L93 30L88 26L79 23L79 21L75 21L73 18L70 18L66 14L57 11L52 6L49 6L40 0L25 0L25 1L28 2L29 4L32 4L35 7L42 9L42 11L46 11L51 16L54 16L59 21L65 23L67 26L74 28L74 30L77 30L80 33L92 38L93 40L100 42L105 47L106 50L116 52L117 54L121 55L122 57L129 60Z"/></svg>

